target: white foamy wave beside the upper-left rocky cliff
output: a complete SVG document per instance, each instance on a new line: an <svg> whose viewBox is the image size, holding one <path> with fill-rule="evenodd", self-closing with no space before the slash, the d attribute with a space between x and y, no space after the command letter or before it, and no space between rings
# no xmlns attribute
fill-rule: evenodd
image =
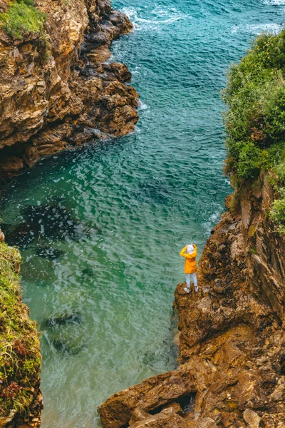
<svg viewBox="0 0 285 428"><path fill-rule="evenodd" d="M134 7L125 7L123 13L130 18L134 29L137 31L160 30L161 26L172 24L182 19L191 19L191 16L183 14L175 7L156 7L152 11ZM143 14L150 17L142 18Z"/></svg>

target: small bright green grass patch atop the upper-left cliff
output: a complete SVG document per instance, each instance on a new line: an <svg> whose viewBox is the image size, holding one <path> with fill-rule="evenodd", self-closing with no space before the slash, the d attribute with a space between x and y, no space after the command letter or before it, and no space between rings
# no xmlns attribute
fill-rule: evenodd
<svg viewBox="0 0 285 428"><path fill-rule="evenodd" d="M0 14L0 26L10 37L21 39L25 33L43 33L46 15L38 11L33 0L12 0L9 9Z"/></svg>

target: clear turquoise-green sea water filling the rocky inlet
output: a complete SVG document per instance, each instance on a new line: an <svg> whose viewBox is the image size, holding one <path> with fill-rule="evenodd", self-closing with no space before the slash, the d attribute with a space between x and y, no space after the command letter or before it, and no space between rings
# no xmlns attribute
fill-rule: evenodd
<svg viewBox="0 0 285 428"><path fill-rule="evenodd" d="M231 191L225 68L254 34L281 29L285 1L113 6L135 24L112 60L133 71L136 132L42 161L9 185L1 208L17 225L9 240L21 246L24 300L43 332L43 428L99 427L96 407L110 394L175 367L179 251L193 241L202 253Z"/></svg>

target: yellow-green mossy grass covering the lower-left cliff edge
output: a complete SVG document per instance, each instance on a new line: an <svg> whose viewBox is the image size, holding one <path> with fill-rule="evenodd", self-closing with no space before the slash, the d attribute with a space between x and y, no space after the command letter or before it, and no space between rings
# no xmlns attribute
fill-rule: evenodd
<svg viewBox="0 0 285 428"><path fill-rule="evenodd" d="M33 401L41 365L38 333L21 302L16 248L0 243L0 417Z"/></svg>

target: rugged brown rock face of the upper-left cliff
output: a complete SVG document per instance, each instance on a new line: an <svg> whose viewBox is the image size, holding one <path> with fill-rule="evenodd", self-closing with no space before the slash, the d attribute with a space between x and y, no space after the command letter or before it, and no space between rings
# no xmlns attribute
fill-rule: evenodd
<svg viewBox="0 0 285 428"><path fill-rule="evenodd" d="M138 121L128 68L105 63L132 29L110 0L38 0L46 39L0 31L0 184L41 156L95 138L123 136Z"/></svg>

